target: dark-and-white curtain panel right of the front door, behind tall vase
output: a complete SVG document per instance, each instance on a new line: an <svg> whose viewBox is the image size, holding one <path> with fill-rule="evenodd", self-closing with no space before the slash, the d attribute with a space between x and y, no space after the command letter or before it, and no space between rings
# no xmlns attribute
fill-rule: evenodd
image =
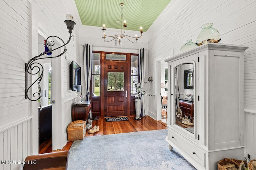
<svg viewBox="0 0 256 170"><path fill-rule="evenodd" d="M146 74L146 49L139 49L139 74L140 74L140 84L142 89L144 89L144 79ZM140 116L146 116L145 111L145 96L141 96L142 107Z"/></svg>

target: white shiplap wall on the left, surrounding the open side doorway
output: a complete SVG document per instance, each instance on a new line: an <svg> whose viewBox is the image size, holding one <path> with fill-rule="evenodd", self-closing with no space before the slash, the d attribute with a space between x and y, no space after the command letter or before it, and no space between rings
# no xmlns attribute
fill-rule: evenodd
<svg viewBox="0 0 256 170"><path fill-rule="evenodd" d="M33 114L32 102L24 98L25 94L25 70L24 63L32 58L31 54L31 25L30 6L36 8L42 18L37 18L38 23L46 20L47 24L40 27L51 29L44 30L45 33L56 35L67 41L69 33L64 20L66 14L73 14L76 27L72 41L67 45L66 60L59 65L61 72L62 93L58 94L63 107L61 123L57 126L62 128L59 132L60 148L67 142L66 127L71 122L71 107L75 92L69 88L69 64L72 60L79 62L79 27L80 18L73 0L1 0L0 21L1 21L1 42L0 42L0 159L1 160L24 160L27 155L38 152L32 150L32 145L38 145L35 140L38 134L33 136ZM40 16L38 15L38 16ZM33 19L34 16L32 16ZM35 19L35 18L34 18ZM34 45L37 46L37 43ZM34 56L33 56L34 57ZM62 56L64 57L64 56ZM59 87L60 88L60 87ZM34 105L33 103L33 106ZM36 114L35 114L36 115ZM33 140L32 140L33 139ZM2 167L3 166L3 167ZM22 169L22 166L0 165L0 169Z"/></svg>

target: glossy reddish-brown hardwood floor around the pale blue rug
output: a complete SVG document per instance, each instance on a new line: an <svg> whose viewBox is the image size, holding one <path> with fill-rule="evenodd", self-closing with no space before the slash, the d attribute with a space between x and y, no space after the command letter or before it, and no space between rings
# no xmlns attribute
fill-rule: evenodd
<svg viewBox="0 0 256 170"><path fill-rule="evenodd" d="M149 116L142 117L141 120L137 121L134 117L128 117L128 121L112 121L106 122L105 119L99 119L92 122L92 127L95 125L100 127L100 131L96 133L88 133L86 131L85 137L89 136L98 136L98 135L110 135L116 133L129 133L136 131L152 131L152 130L160 130L167 129L165 123L161 121L156 121ZM45 143L42 143L39 147L39 153L48 153L48 152L57 152L62 150L69 150L73 142L68 142L63 149L53 150L51 141L48 140Z"/></svg>

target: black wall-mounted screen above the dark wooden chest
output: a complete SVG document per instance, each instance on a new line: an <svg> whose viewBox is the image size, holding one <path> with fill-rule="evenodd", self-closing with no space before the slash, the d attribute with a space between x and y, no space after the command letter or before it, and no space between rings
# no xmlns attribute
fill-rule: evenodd
<svg viewBox="0 0 256 170"><path fill-rule="evenodd" d="M71 90L77 90L77 85L81 85L81 67L74 61L70 63L69 77Z"/></svg>

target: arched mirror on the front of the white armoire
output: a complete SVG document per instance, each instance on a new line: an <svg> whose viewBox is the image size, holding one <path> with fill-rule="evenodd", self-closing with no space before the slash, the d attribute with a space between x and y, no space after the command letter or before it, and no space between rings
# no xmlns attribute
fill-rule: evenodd
<svg viewBox="0 0 256 170"><path fill-rule="evenodd" d="M194 133L194 64L174 68L175 124Z"/></svg>

